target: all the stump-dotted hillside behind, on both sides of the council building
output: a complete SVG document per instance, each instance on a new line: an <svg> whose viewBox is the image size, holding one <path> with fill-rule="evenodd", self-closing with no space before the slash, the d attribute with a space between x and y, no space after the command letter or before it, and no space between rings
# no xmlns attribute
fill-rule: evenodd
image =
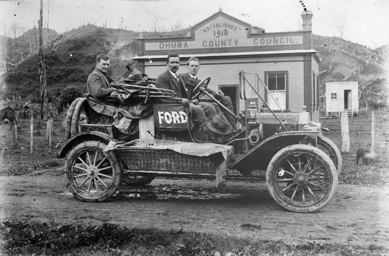
<svg viewBox="0 0 389 256"><path fill-rule="evenodd" d="M145 38L177 37L184 36L188 31L189 29L166 33L143 32L142 35ZM64 34L46 31L45 61L49 100L58 97L62 88L67 85L80 86L85 90L86 78L95 66L94 58L98 53L111 56L110 75L115 79L126 77L128 72L124 66L137 54L133 40L139 34L94 25L82 26ZM22 49L24 45L24 50L29 51L32 35L35 37L34 30L16 39L8 38L7 45L10 46L13 42L14 46L18 45L14 49ZM313 35L312 43L321 60L319 70L321 95L325 91L324 83L335 81L358 81L361 102L388 95L388 81L384 70L388 69L385 66L385 54L388 54L389 46L373 50L338 37L320 35ZM35 100L39 95L37 54L33 52L23 57L24 55L18 52L20 50L14 51L10 48L6 56L7 73L4 80L7 86L2 86L2 95L30 97L31 100ZM20 61L20 58L23 58L23 61ZM14 67L15 63L18 63L17 67Z"/></svg>

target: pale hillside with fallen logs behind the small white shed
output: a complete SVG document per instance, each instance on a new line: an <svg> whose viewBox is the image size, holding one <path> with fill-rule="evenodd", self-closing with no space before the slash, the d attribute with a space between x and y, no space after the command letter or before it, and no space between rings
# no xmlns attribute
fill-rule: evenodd
<svg viewBox="0 0 389 256"><path fill-rule="evenodd" d="M373 50L339 37L313 35L312 48L321 60L320 95L324 95L325 82L358 81L360 104L386 100L388 46Z"/></svg>

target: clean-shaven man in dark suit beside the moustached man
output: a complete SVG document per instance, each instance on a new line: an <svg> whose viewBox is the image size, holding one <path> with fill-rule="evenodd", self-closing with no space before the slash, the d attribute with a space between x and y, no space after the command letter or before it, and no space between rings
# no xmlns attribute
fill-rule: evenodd
<svg viewBox="0 0 389 256"><path fill-rule="evenodd" d="M182 77L182 80L184 80L185 86L187 88L187 93L189 95L192 95L193 89L195 86L200 82L200 80L197 78L197 72L200 69L200 61L195 58L191 57L189 58L188 62L186 63L186 66L188 68L188 73L180 75ZM205 88L205 90L210 93L213 97L215 97L216 100L218 100L220 103L225 105L229 110L233 112L234 107L232 106L232 101L229 96L225 96L224 93L221 90L218 90L217 92L212 91L209 88ZM203 109L204 107L207 107L207 105L212 104L217 114L221 114L222 111L220 110L219 106L212 101L207 95L200 94L197 99L197 104L200 105ZM204 109L205 114L207 115L207 110ZM232 127L235 126L235 119L228 113L224 113L226 118L229 120ZM208 116L207 116L208 117Z"/></svg>

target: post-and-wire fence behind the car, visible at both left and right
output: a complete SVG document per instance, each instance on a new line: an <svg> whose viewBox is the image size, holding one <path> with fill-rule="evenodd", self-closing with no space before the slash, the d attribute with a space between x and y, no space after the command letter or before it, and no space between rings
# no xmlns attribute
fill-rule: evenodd
<svg viewBox="0 0 389 256"><path fill-rule="evenodd" d="M374 112L371 112L358 118L347 117L345 120L348 122L348 131L343 131L340 118L320 117L321 126L330 129L330 132L323 133L323 136L329 137L339 148L346 135L352 148L371 147L374 150L376 145L378 149L389 148L389 115L374 115ZM1 125L0 135L3 137L3 144L7 141L10 143L12 138L13 147L30 149L30 154L37 148L50 153L66 140L65 130L65 114L61 114L46 120L19 119L18 127ZM2 146L4 148L4 145Z"/></svg>

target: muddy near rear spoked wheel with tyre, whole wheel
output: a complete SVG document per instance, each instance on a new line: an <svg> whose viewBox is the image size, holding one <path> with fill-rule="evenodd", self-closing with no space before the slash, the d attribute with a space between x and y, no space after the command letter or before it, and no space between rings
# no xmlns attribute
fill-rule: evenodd
<svg viewBox="0 0 389 256"><path fill-rule="evenodd" d="M74 147L66 161L68 188L80 200L103 202L112 197L121 184L119 161L113 152L104 152L106 144L85 141Z"/></svg>

